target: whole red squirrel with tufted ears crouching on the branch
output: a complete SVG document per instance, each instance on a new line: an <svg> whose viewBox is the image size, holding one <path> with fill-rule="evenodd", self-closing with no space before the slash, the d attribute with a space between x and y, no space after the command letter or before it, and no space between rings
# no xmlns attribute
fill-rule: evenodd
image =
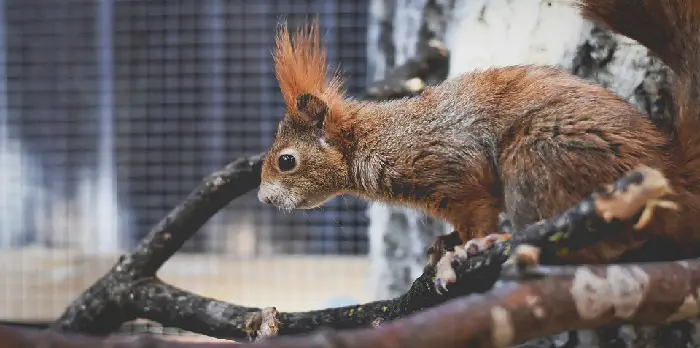
<svg viewBox="0 0 700 348"><path fill-rule="evenodd" d="M273 61L286 104L262 164L258 198L312 209L337 195L415 208L454 232L446 249L484 251L515 230L563 213L604 184L647 166L669 180L680 209L655 212L562 256L607 263L648 243L676 257L700 247L700 0L577 0L584 18L636 40L673 72L673 134L604 87L553 66L476 69L413 97L347 97L327 72L318 25L277 32ZM442 239L440 239L442 238ZM446 251L429 263L450 267ZM464 253L462 253L464 254ZM697 256L697 255L695 255ZM446 285L455 276L443 272Z"/></svg>

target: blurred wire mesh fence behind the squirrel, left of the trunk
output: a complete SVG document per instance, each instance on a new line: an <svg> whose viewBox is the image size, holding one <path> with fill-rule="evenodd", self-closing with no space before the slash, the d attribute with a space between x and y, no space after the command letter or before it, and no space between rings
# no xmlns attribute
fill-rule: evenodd
<svg viewBox="0 0 700 348"><path fill-rule="evenodd" d="M60 314L203 176L267 148L284 111L271 57L281 20L318 18L330 64L359 93L368 2L0 0L0 254L9 262L0 273L13 279L0 285L0 317ZM252 267L265 275L247 282L266 279L268 290L304 277L328 283L338 267L330 258L350 271L325 293L356 289L347 296L358 299L366 265L352 256L367 252L364 209L340 197L283 213L251 192L211 219L164 277L255 302L278 292L222 277ZM295 261L270 261L279 257ZM297 295L287 297L320 305L318 291Z"/></svg>

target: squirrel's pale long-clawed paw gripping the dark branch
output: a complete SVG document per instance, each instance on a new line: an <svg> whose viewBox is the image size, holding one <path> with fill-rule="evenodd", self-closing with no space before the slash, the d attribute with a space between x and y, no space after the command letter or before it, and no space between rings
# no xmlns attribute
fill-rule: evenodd
<svg viewBox="0 0 700 348"><path fill-rule="evenodd" d="M464 262L469 257L481 254L493 247L496 243L510 239L507 233L492 233L482 238L474 238L464 244L456 246L454 251L446 252L435 266L435 290L438 294L447 292L447 285L457 281L457 273L452 266L455 261Z"/></svg>

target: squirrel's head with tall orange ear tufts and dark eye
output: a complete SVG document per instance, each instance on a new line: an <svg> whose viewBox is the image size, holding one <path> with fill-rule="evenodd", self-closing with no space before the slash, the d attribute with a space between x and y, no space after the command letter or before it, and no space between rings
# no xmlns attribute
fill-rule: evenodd
<svg viewBox="0 0 700 348"><path fill-rule="evenodd" d="M293 41L282 27L273 56L287 110L263 160L258 198L285 210L315 208L349 183L339 136L341 81L338 75L327 79L315 23Z"/></svg>

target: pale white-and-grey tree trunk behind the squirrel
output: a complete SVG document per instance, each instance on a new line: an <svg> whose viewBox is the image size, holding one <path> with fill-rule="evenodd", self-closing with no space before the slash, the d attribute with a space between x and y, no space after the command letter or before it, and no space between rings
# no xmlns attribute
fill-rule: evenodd
<svg viewBox="0 0 700 348"><path fill-rule="evenodd" d="M450 50L448 77L488 66L557 65L603 85L672 132L666 68L636 42L582 19L565 1L372 0L371 6L372 80L416 55L420 41L432 35ZM421 274L428 244L450 226L403 207L370 204L368 215L375 296L399 295ZM691 342L700 342L698 325L685 321L661 328L577 331L525 346L697 346Z"/></svg>

